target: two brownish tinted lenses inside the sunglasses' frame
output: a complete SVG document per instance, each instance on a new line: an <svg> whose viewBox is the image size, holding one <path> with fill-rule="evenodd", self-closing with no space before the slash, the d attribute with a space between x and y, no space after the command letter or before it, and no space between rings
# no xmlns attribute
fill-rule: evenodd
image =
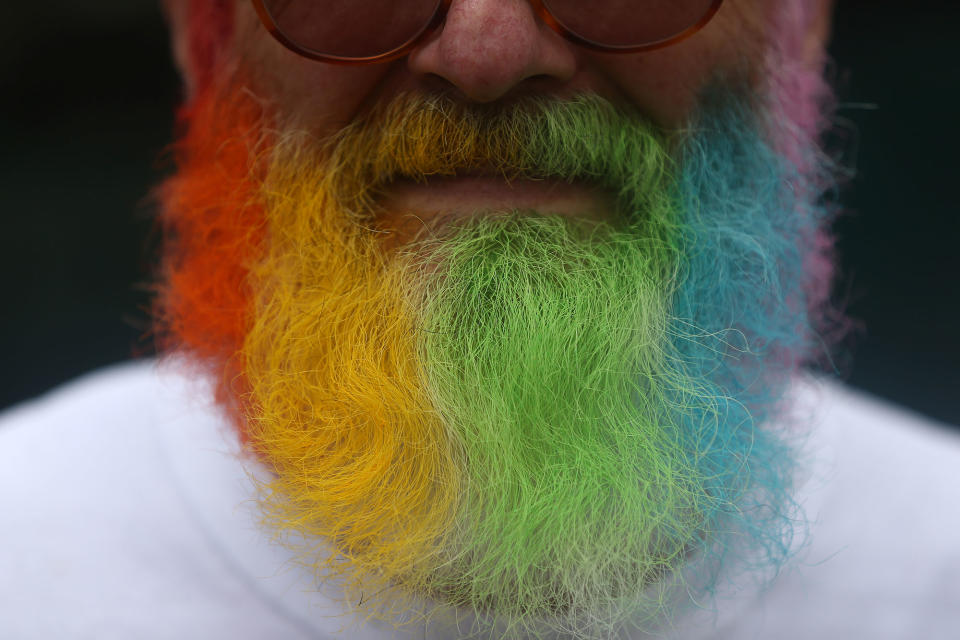
<svg viewBox="0 0 960 640"><path fill-rule="evenodd" d="M428 26L441 0L264 0L277 29L293 44L340 58L379 56ZM714 0L544 0L571 33L606 47L672 38L703 19Z"/></svg>

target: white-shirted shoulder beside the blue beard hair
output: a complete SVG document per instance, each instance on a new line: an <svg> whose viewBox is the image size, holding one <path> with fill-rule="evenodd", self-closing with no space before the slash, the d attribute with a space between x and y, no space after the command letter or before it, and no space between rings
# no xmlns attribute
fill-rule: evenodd
<svg viewBox="0 0 960 640"><path fill-rule="evenodd" d="M775 637L955 637L960 625L960 435L820 380L807 547L758 604ZM774 636L771 636L774 637Z"/></svg>

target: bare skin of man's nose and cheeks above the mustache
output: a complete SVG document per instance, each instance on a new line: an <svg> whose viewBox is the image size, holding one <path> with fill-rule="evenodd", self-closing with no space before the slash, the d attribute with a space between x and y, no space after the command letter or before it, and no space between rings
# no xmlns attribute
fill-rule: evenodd
<svg viewBox="0 0 960 640"><path fill-rule="evenodd" d="M728 0L695 37L644 54L593 53L543 24L524 0L454 2L444 26L411 55L390 64L317 64L285 49L238 5L239 48L264 89L302 114L317 133L349 123L370 101L401 92L454 90L477 103L539 94L595 93L641 107L663 125L685 121L697 93L718 70L744 63L759 71L768 34L760 0ZM642 6L637 20L643 20Z"/></svg>

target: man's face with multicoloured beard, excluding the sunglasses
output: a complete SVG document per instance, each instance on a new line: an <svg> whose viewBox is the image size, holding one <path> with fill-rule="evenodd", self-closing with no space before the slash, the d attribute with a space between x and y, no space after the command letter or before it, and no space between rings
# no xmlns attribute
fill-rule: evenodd
<svg viewBox="0 0 960 640"><path fill-rule="evenodd" d="M161 323L348 597L587 635L782 560L766 427L826 281L810 6L727 0L611 55L455 0L363 67L235 6L167 185Z"/></svg>

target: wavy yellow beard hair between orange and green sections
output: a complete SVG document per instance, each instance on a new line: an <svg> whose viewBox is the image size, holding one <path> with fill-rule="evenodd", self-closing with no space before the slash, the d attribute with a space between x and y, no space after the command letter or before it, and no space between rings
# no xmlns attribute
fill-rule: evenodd
<svg viewBox="0 0 960 640"><path fill-rule="evenodd" d="M331 544L304 560L346 577L348 597L401 577L416 590L452 518L458 456L416 370L400 268L305 149L281 144L264 183L269 250L243 346L251 443L275 474L264 504L281 531Z"/></svg>

